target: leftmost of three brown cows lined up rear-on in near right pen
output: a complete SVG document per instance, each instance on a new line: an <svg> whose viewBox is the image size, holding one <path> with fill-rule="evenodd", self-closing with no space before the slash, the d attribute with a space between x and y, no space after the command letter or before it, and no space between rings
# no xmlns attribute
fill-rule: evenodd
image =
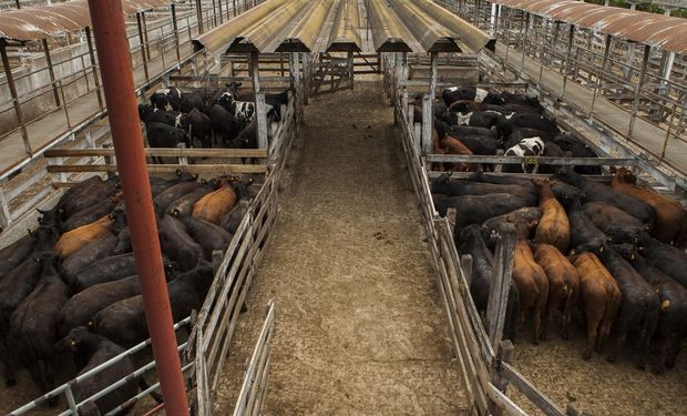
<svg viewBox="0 0 687 416"><path fill-rule="evenodd" d="M534 261L526 240L515 243L513 281L520 293L520 321L524 323L525 313L533 310L534 343L539 344L542 315L548 298L548 280L544 270Z"/></svg>

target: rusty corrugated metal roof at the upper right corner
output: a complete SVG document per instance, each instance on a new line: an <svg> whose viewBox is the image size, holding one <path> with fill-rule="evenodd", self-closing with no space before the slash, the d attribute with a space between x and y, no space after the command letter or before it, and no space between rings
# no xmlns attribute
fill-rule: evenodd
<svg viewBox="0 0 687 416"><path fill-rule="evenodd" d="M574 0L490 0L604 34L687 54L687 19Z"/></svg>

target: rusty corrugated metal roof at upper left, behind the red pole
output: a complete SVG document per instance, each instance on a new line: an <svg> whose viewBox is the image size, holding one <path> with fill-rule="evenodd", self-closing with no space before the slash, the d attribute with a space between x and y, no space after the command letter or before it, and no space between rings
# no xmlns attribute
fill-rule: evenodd
<svg viewBox="0 0 687 416"><path fill-rule="evenodd" d="M122 8L124 13L131 14L171 3L171 0L122 0ZM90 26L91 14L86 0L28 7L0 13L0 38L3 39L40 40Z"/></svg>

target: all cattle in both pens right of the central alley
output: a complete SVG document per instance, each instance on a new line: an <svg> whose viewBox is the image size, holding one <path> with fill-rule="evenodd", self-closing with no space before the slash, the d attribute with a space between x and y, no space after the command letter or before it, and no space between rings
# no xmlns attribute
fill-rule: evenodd
<svg viewBox="0 0 687 416"><path fill-rule="evenodd" d="M434 104L434 153L596 156L563 134L535 98L475 88L443 91ZM421 116L420 103L416 112ZM433 166L475 171L468 180L447 173L431 183L438 212L457 210L455 243L470 254L470 292L485 312L494 267L494 241L504 224L515 230L514 264L504 336L515 338L517 321L533 322L534 342L551 329L558 311L562 336L577 307L586 322L583 357L607 359L635 339L637 365L654 355L653 371L675 366L687 335L687 211L670 197L637 183L628 170L612 169L611 186L583 174L598 166L539 166L548 179L529 180L484 172L471 163ZM511 172L533 172L512 165ZM534 169L534 172L536 171ZM506 171L506 168L503 169Z"/></svg>

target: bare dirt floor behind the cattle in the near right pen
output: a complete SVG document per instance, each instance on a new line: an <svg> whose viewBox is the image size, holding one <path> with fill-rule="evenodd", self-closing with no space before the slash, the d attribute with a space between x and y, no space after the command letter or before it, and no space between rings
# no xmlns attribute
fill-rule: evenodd
<svg viewBox="0 0 687 416"><path fill-rule="evenodd" d="M594 354L588 362L582 359L586 346L586 327L578 316L571 326L571 339L560 333L533 345L525 332L515 344L513 364L534 385L565 408L571 403L578 410L594 416L685 416L687 415L687 353L683 348L675 368L654 375L636 368L634 346L628 346L616 363L608 363L605 355ZM606 349L608 349L606 347ZM543 415L517 394L509 395L531 415Z"/></svg>

